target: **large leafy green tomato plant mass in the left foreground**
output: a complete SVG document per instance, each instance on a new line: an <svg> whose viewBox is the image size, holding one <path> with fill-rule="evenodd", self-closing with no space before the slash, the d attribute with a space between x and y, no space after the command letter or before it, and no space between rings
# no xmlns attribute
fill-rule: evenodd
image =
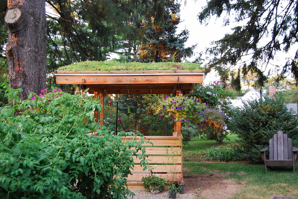
<svg viewBox="0 0 298 199"><path fill-rule="evenodd" d="M54 90L0 108L0 195L5 198L126 198L133 156L146 166L142 134L111 135L94 122L100 101ZM85 121L85 122L83 122ZM104 136L87 137L97 131ZM121 142L123 135L139 135ZM132 147L136 146L133 150ZM146 169L147 167L145 167Z"/></svg>

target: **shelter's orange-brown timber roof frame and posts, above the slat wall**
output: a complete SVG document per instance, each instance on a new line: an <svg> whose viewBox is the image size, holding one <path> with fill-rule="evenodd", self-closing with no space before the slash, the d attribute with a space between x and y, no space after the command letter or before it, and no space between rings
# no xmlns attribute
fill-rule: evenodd
<svg viewBox="0 0 298 199"><path fill-rule="evenodd" d="M205 70L55 70L56 84L83 84L94 98L100 96L100 125L104 120L105 94L188 94L194 83L203 83L204 73ZM174 131L181 134L180 121L175 123Z"/></svg>

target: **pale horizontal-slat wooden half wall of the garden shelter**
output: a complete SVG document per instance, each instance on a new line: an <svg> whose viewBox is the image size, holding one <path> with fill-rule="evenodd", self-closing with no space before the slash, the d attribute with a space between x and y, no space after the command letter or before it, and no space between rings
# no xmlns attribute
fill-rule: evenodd
<svg viewBox="0 0 298 199"><path fill-rule="evenodd" d="M132 175L129 175L127 180L134 182L142 180L143 176L150 175L151 167L154 175L158 175L161 178L166 178L167 181L181 181L182 138L182 136L146 136L145 140L152 142L154 146L152 147L152 144L148 143L144 144L145 146L147 146L146 154L149 155L149 168L144 171L143 167L139 165L139 158L134 156L134 170L131 170ZM134 137L123 137L122 142L125 142L129 139L134 139ZM136 139L139 140L139 137L137 137ZM155 165L157 166L154 167Z"/></svg>

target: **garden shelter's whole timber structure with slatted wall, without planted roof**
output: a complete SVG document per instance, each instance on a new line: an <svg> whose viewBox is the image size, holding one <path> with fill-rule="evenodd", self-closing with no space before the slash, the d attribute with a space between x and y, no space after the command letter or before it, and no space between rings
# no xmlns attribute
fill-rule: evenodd
<svg viewBox="0 0 298 199"><path fill-rule="evenodd" d="M57 84L83 84L94 93L94 98L100 96L102 111L100 125L104 120L105 94L188 94L194 83L203 83L205 70L143 70L143 71L62 71L56 70ZM98 115L95 113L95 117ZM148 154L147 170L134 157L134 168L127 177L129 189L143 189L142 177L150 174L150 167L157 166L156 173L167 181L183 182L182 170L182 139L181 121L175 122L176 136L146 136L146 154ZM91 136L91 135L89 135ZM98 136L98 135L94 135ZM122 137L122 142L135 139L133 136ZM140 139L136 137L136 139ZM158 174L157 174L158 173ZM171 180L170 180L171 179Z"/></svg>

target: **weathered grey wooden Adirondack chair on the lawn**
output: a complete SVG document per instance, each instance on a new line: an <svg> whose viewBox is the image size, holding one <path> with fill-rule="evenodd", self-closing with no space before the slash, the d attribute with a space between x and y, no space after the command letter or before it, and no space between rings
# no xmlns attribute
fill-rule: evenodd
<svg viewBox="0 0 298 199"><path fill-rule="evenodd" d="M266 160L266 151L269 149L269 159ZM295 173L295 160L297 158L298 148L292 147L292 139L288 138L283 131L278 131L273 138L269 140L269 147L260 151L265 162L265 171L269 166L292 166Z"/></svg>

